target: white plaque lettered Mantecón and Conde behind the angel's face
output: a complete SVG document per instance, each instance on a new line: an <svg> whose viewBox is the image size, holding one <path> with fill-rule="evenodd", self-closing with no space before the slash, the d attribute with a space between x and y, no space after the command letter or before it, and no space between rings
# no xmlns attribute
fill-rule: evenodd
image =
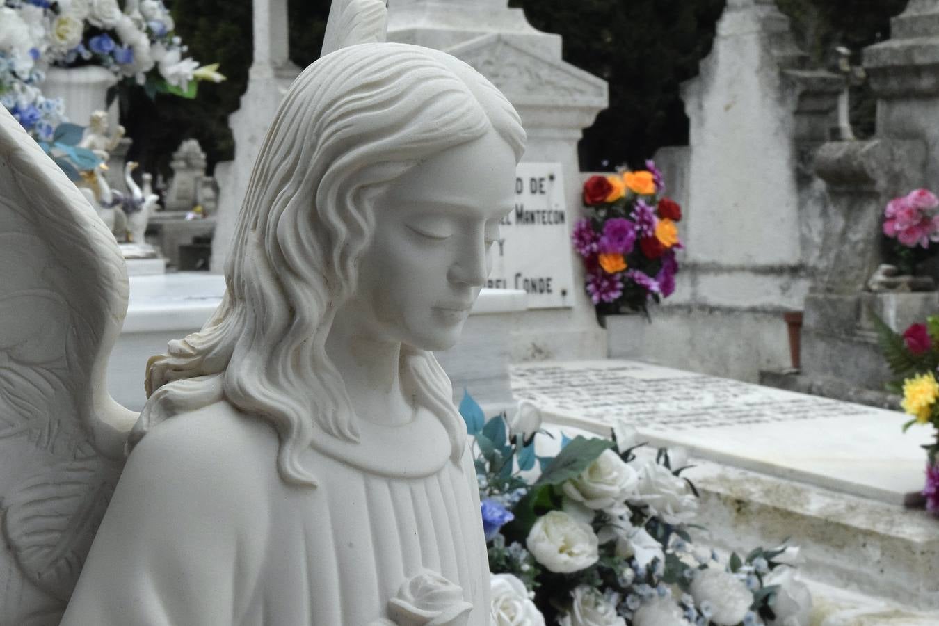
<svg viewBox="0 0 939 626"><path fill-rule="evenodd" d="M530 309L574 305L561 163L519 163L515 207L500 224L486 286L524 289Z"/></svg>

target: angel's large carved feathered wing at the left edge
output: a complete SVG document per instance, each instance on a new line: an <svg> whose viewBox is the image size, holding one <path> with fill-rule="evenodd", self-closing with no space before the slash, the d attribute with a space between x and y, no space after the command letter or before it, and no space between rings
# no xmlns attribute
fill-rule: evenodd
<svg viewBox="0 0 939 626"><path fill-rule="evenodd" d="M0 624L59 622L114 491L127 298L115 238L0 106Z"/></svg>

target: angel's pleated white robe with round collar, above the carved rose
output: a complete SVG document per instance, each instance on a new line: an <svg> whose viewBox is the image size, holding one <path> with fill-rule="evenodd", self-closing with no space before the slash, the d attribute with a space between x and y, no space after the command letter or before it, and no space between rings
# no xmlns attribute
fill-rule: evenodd
<svg viewBox="0 0 939 626"><path fill-rule="evenodd" d="M489 623L489 574L469 449L439 419L362 421L285 483L266 422L218 403L154 427L131 453L64 626L369 626L422 572ZM381 622L392 623L392 622ZM423 622L414 622L423 623Z"/></svg>

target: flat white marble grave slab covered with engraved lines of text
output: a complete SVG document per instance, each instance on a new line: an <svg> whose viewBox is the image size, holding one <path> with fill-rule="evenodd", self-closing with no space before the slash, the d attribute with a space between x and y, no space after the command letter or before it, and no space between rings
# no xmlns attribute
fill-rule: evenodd
<svg viewBox="0 0 939 626"><path fill-rule="evenodd" d="M929 435L896 411L615 359L514 365L512 388L548 422L624 420L656 446L855 496L902 504L924 481Z"/></svg>

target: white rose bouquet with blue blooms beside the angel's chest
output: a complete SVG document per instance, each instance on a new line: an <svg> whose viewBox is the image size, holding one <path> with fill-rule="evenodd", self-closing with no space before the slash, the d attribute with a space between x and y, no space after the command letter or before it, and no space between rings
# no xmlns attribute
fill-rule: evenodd
<svg viewBox="0 0 939 626"><path fill-rule="evenodd" d="M747 557L692 545L698 495L680 454L639 460L635 431L564 437L535 453L540 415L519 406L485 422L460 405L475 438L496 626L807 626L808 588L789 567L796 548Z"/></svg>

